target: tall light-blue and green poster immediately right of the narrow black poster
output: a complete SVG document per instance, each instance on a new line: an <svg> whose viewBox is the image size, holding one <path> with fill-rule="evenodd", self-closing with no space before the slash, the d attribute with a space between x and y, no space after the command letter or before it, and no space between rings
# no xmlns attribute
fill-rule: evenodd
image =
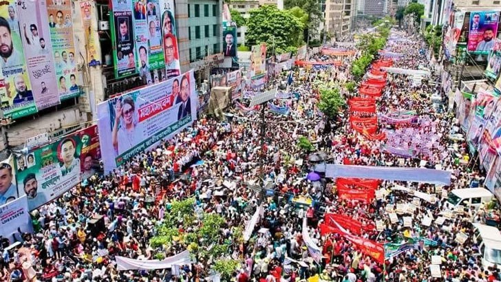
<svg viewBox="0 0 501 282"><path fill-rule="evenodd" d="M142 80L151 85L167 79L160 27L158 0L133 0L134 39L138 52L138 69ZM160 72L158 72L160 70Z"/></svg>

